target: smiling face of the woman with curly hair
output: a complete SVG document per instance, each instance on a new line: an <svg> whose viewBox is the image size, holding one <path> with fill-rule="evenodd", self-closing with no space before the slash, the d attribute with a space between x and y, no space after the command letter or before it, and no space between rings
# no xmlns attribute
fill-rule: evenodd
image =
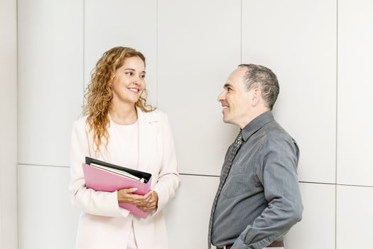
<svg viewBox="0 0 373 249"><path fill-rule="evenodd" d="M114 103L133 105L145 89L145 65L138 56L126 58L112 82Z"/></svg>

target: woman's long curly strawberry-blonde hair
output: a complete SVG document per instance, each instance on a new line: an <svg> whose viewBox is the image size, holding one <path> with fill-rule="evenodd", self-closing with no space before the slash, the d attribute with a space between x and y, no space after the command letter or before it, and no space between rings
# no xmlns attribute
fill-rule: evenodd
<svg viewBox="0 0 373 249"><path fill-rule="evenodd" d="M92 71L92 80L85 92L85 105L83 114L87 116L88 132L93 134L94 151L99 152L102 143L109 142L109 110L112 107L112 81L117 69L120 68L126 58L139 57L145 62L145 56L134 48L115 47L106 51L100 58ZM143 112L151 112L153 107L146 103L146 90L136 102Z"/></svg>

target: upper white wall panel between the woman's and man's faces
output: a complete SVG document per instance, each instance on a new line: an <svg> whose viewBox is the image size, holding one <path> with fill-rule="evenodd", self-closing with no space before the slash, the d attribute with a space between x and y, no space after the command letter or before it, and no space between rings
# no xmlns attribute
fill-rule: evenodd
<svg viewBox="0 0 373 249"><path fill-rule="evenodd" d="M179 170L219 175L238 129L217 95L240 63L241 1L158 0L158 107L168 113Z"/></svg>

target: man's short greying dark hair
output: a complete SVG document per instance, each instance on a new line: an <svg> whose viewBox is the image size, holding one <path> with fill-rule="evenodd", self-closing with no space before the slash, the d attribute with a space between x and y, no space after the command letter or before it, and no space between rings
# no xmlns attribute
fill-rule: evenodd
<svg viewBox="0 0 373 249"><path fill-rule="evenodd" d="M274 103L279 96L280 86L279 80L271 69L264 67L263 65L255 64L240 64L240 68L247 68L244 74L244 84L247 90L252 88L260 88L261 97L263 98L266 107L272 110Z"/></svg>

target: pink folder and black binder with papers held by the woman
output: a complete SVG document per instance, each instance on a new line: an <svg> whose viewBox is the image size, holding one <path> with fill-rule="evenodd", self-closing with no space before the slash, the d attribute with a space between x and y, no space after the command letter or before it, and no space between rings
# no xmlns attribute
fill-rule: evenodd
<svg viewBox="0 0 373 249"><path fill-rule="evenodd" d="M151 174L128 169L124 166L109 164L90 157L85 157L82 164L85 176L85 185L88 189L95 191L114 192L119 189L137 188L134 194L145 195L151 188ZM125 208L135 216L146 218L148 213L141 211L134 205L119 203L121 208Z"/></svg>

